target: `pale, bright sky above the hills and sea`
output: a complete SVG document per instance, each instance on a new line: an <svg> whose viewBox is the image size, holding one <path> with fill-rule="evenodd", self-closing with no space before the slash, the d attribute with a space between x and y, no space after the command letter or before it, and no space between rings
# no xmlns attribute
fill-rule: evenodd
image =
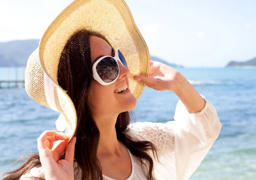
<svg viewBox="0 0 256 180"><path fill-rule="evenodd" d="M40 39L71 2L0 0L0 42ZM256 56L255 0L126 2L151 55L186 67L223 67Z"/></svg>

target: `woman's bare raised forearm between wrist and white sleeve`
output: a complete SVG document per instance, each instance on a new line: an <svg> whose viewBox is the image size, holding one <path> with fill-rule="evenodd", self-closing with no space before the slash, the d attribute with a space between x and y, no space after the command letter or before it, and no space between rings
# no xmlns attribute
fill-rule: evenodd
<svg viewBox="0 0 256 180"><path fill-rule="evenodd" d="M178 84L174 92L186 106L189 113L197 113L204 109L206 103L204 98L182 74L179 75Z"/></svg>

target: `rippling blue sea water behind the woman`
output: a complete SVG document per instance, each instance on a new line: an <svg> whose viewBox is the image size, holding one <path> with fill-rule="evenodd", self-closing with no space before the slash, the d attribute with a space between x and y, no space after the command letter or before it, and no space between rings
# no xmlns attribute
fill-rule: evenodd
<svg viewBox="0 0 256 180"><path fill-rule="evenodd" d="M190 180L256 179L256 69L178 68L216 108L222 129ZM0 69L0 79L6 76ZM23 73L19 74L22 79ZM134 109L137 121L172 121L178 98L145 88ZM0 89L0 173L15 160L37 153L36 139L55 130L58 113L41 106L23 87Z"/></svg>

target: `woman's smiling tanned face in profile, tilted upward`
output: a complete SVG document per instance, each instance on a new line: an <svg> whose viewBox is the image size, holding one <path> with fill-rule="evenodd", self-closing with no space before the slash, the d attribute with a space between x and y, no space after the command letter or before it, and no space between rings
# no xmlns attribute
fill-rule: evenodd
<svg viewBox="0 0 256 180"><path fill-rule="evenodd" d="M90 53L91 61L95 62L95 59L99 59L99 56L114 56L112 47L108 43L95 36L90 37ZM118 47L113 47L118 48ZM93 105L93 113L96 117L105 117L118 115L119 113L133 110L137 105L137 100L133 96L130 90L127 93L116 93L115 90L124 84L127 84L129 88L128 76L130 70L125 68L119 63L119 77L116 81L110 85L103 86L96 80L93 80L92 86L89 92L89 101Z"/></svg>

